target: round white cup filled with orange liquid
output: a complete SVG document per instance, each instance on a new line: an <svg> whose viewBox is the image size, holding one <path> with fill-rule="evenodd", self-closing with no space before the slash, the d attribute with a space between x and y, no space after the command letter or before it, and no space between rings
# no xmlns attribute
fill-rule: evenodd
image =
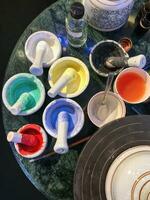
<svg viewBox="0 0 150 200"><path fill-rule="evenodd" d="M150 97L150 76L143 69L124 69L114 82L114 92L130 104L138 104Z"/></svg>

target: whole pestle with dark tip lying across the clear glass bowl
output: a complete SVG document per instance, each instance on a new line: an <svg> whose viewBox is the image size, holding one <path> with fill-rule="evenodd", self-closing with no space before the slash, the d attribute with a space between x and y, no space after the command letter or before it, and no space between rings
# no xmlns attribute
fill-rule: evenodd
<svg viewBox="0 0 150 200"><path fill-rule="evenodd" d="M106 60L105 65L109 69L122 68L122 67L143 68L146 65L146 57L142 54L130 58L110 57Z"/></svg>

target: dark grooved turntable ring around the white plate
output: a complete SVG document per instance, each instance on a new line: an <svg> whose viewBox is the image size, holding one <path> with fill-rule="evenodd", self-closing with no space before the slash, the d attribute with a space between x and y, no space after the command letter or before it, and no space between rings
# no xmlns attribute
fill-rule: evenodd
<svg viewBox="0 0 150 200"><path fill-rule="evenodd" d="M74 176L75 200L106 200L105 179L112 162L123 151L150 145L150 116L113 121L97 133L82 151Z"/></svg>

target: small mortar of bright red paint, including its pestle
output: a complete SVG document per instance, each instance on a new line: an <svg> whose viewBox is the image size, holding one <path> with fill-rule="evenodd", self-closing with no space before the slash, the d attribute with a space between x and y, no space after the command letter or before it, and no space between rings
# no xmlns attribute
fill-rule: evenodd
<svg viewBox="0 0 150 200"><path fill-rule="evenodd" d="M41 155L47 146L47 135L44 129L36 124L27 124L17 132L9 132L7 140L13 142L18 154L25 158Z"/></svg>

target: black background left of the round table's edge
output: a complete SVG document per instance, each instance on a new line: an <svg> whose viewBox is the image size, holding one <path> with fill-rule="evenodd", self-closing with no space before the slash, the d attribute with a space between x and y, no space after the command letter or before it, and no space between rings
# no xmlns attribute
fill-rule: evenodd
<svg viewBox="0 0 150 200"><path fill-rule="evenodd" d="M29 23L56 0L0 1L0 89L11 52ZM2 103L2 102L1 102ZM0 114L1 111L0 111ZM21 171L6 141L0 116L0 200L45 200Z"/></svg>

